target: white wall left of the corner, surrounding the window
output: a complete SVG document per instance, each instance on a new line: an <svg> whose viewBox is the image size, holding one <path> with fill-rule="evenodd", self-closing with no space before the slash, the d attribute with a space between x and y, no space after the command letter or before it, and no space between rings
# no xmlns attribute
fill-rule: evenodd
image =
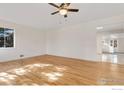
<svg viewBox="0 0 124 93"><path fill-rule="evenodd" d="M14 28L16 42L15 48L0 49L0 62L18 59L21 54L31 57L46 53L45 31L2 20L0 26Z"/></svg>

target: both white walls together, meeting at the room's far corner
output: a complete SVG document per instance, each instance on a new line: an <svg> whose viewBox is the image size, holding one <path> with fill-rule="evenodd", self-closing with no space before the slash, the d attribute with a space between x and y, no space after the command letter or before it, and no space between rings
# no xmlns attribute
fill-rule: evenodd
<svg viewBox="0 0 124 93"><path fill-rule="evenodd" d="M101 57L97 54L96 27L123 20L124 16L115 16L45 31L1 20L1 27L15 29L16 45L14 49L0 49L0 62L18 59L20 54L31 57L46 53L99 61Z"/></svg>

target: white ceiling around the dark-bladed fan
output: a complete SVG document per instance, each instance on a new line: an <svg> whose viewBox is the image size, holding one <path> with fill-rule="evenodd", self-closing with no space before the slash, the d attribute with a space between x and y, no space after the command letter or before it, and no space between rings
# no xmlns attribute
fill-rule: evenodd
<svg viewBox="0 0 124 93"><path fill-rule="evenodd" d="M0 19L37 28L54 28L124 14L124 4L73 3L70 7L78 8L79 12L69 13L65 20L59 14L50 15L56 8L47 3L1 3Z"/></svg>

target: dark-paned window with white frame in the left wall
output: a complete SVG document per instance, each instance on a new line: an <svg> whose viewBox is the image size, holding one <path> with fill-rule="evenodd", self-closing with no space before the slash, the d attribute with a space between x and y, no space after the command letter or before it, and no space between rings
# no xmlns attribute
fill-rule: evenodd
<svg viewBox="0 0 124 93"><path fill-rule="evenodd" d="M0 27L0 48L14 47L14 29Z"/></svg>

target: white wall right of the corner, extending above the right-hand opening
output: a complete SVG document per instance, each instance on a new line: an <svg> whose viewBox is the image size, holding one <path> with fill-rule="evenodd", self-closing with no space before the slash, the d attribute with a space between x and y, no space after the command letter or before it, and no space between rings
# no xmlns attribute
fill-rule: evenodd
<svg viewBox="0 0 124 93"><path fill-rule="evenodd" d="M97 26L120 23L124 16L72 25L47 32L47 54L100 61L97 49Z"/></svg>

